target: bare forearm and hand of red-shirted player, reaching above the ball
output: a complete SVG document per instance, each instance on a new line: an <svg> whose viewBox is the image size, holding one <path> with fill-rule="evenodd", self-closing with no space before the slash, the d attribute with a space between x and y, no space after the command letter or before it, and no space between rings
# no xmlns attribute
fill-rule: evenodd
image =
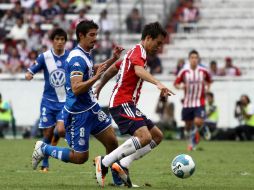
<svg viewBox="0 0 254 190"><path fill-rule="evenodd" d="M160 89L163 92L162 96L166 95L174 95L174 93L169 90L166 86L164 86L160 81L158 81L156 78L153 77L149 72L147 72L144 67L139 65L134 65L135 74L140 77L141 79L150 82L157 86L158 89Z"/></svg>

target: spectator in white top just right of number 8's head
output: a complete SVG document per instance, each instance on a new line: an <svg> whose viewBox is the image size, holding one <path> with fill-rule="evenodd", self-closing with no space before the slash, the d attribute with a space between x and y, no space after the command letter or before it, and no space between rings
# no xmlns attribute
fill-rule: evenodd
<svg viewBox="0 0 254 190"><path fill-rule="evenodd" d="M112 32L114 28L113 22L108 18L108 11L106 9L104 9L100 13L99 27L100 27L101 33Z"/></svg>

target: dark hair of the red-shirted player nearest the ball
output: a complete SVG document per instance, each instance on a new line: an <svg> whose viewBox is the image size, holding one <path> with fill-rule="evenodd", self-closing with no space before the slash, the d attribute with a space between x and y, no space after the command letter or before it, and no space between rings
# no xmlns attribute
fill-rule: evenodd
<svg viewBox="0 0 254 190"><path fill-rule="evenodd" d="M167 31L161 26L159 22L153 22L145 25L143 31L141 40L144 40L146 36L151 36L152 39L157 38L159 35L162 35L163 37L167 36Z"/></svg>

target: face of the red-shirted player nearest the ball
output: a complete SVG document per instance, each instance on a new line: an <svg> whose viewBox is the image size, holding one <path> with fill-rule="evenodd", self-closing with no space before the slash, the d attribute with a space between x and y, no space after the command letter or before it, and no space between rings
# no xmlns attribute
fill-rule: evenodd
<svg viewBox="0 0 254 190"><path fill-rule="evenodd" d="M146 51L149 55L155 55L162 48L164 37L159 35L157 38L152 39L150 36L147 36L147 48Z"/></svg>

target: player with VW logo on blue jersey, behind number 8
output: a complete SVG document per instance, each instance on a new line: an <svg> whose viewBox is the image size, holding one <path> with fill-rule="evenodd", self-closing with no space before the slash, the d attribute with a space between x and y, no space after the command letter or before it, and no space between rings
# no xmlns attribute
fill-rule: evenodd
<svg viewBox="0 0 254 190"><path fill-rule="evenodd" d="M59 134L55 130L56 138L64 135L64 123L62 109L66 99L65 91L65 60L69 55L69 51L64 49L67 41L67 33L56 28L51 32L50 39L52 41L52 49L40 54L34 65L28 68L25 78L32 80L33 76L39 71L44 72L44 91L40 106L40 123L39 128L43 130L43 142L50 144L54 136L54 128L63 130L63 134ZM49 168L48 157L42 162L41 171L47 172Z"/></svg>

